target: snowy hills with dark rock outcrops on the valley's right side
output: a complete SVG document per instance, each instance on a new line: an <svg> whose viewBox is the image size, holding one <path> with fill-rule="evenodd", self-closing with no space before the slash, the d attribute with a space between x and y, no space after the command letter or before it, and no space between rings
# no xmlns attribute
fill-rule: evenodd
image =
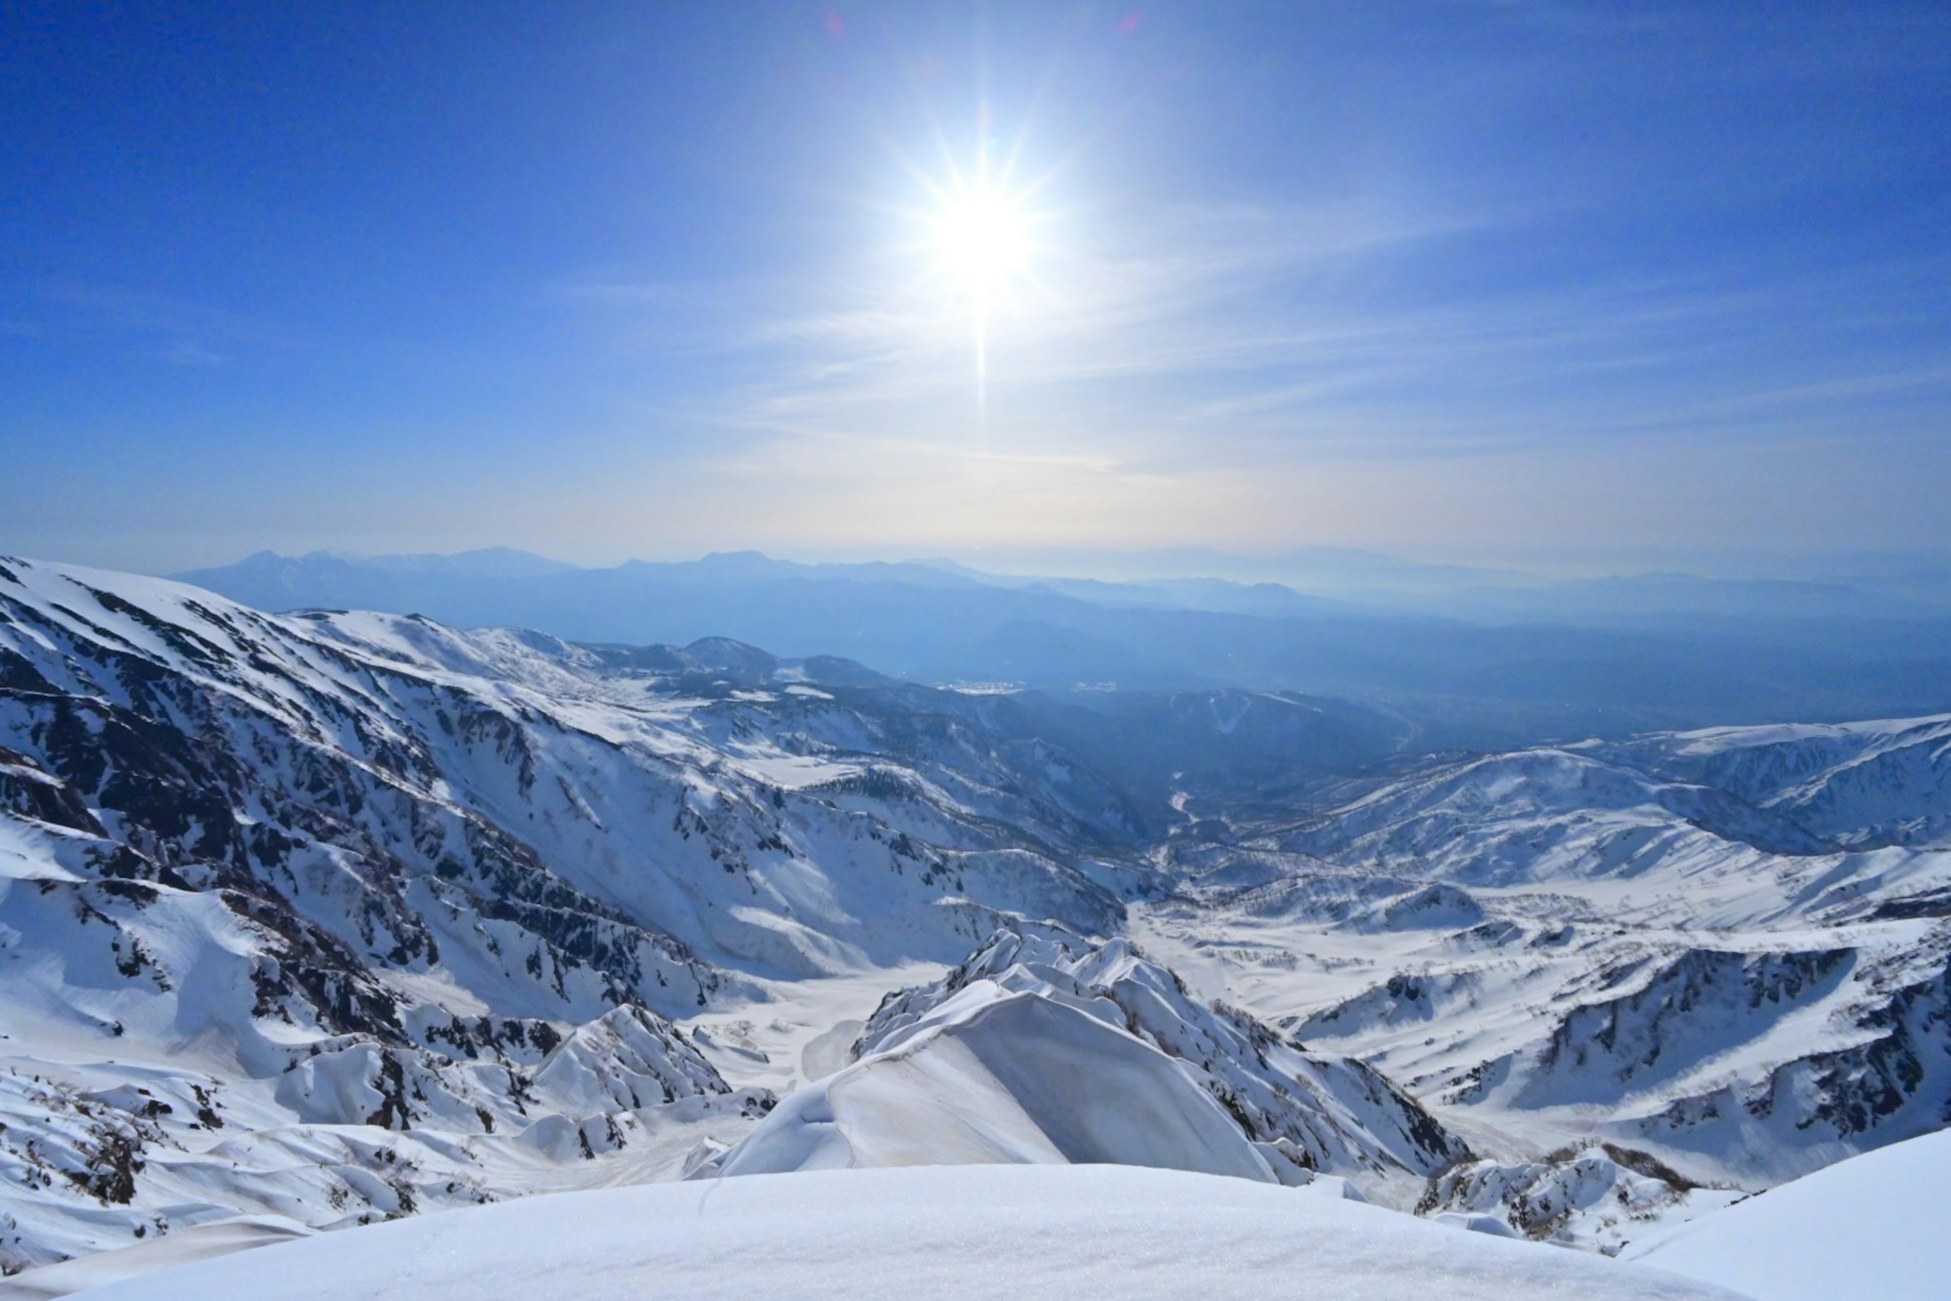
<svg viewBox="0 0 1951 1301"><path fill-rule="evenodd" d="M1877 755L1933 726L1809 731ZM1855 848L1887 819L1881 786L1850 804L1830 784L1826 817L1803 821L1754 767L1656 763L1692 745L1348 780L1299 819L1171 847L1184 884L1134 928L1465 1135L1475 1161L1440 1172L1424 1211L1617 1248L1734 1188L1937 1129L1951 854Z"/></svg>

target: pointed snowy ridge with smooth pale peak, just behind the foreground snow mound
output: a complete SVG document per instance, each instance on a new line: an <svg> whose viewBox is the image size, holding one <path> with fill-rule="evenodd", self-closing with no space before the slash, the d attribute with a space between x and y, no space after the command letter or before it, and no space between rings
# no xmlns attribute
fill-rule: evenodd
<svg viewBox="0 0 1951 1301"><path fill-rule="evenodd" d="M942 979L890 995L853 1057L698 1174L1114 1163L1329 1174L1413 1203L1469 1155L1370 1067L1196 1003L1122 938L1073 952L997 932Z"/></svg>

